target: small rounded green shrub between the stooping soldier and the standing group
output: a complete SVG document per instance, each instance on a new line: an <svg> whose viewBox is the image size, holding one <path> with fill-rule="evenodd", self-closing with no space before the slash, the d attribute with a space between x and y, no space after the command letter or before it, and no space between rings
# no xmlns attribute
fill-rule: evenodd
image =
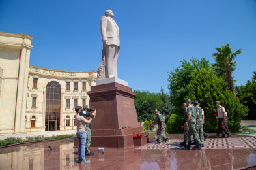
<svg viewBox="0 0 256 170"><path fill-rule="evenodd" d="M171 114L167 122L167 133L183 133L184 120L177 114Z"/></svg>

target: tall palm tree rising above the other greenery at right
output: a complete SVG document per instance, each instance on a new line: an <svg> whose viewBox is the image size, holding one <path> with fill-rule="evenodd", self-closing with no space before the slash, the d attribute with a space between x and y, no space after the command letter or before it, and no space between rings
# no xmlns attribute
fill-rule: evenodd
<svg viewBox="0 0 256 170"><path fill-rule="evenodd" d="M232 53L229 43L226 46L221 45L221 48L215 48L218 52L212 54L216 63L213 66L213 70L218 77L224 78L227 82L229 90L234 92L232 72L236 69L236 61L233 61L236 54L242 53L242 49Z"/></svg>

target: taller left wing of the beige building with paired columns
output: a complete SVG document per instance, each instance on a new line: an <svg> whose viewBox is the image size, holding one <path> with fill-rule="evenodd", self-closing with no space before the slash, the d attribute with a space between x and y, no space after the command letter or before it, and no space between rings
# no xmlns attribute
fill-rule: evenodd
<svg viewBox="0 0 256 170"><path fill-rule="evenodd" d="M32 39L25 33L0 31L0 133L20 131L23 95L27 93L23 90L25 69L29 67L26 63L33 48Z"/></svg>

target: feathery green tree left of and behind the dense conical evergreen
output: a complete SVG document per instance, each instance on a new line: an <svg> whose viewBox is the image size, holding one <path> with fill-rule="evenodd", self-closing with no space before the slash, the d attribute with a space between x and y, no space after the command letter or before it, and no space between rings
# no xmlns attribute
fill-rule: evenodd
<svg viewBox="0 0 256 170"><path fill-rule="evenodd" d="M186 96L188 95L188 84L192 80L193 72L200 68L210 71L211 66L206 58L197 60L193 57L190 61L183 60L181 63L182 65L180 67L169 72L168 81L170 101L174 106L173 113L184 117L182 103L185 102Z"/></svg>

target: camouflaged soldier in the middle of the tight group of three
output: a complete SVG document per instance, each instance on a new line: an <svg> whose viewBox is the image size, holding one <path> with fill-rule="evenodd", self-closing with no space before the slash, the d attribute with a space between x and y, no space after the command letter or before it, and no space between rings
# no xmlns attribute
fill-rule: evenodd
<svg viewBox="0 0 256 170"><path fill-rule="evenodd" d="M195 111L195 107L193 105L191 105L191 100L190 99L186 99L186 105L188 107L188 120L186 121L186 127L189 127L188 130L188 146L186 146L188 148L188 150L190 150L190 146L192 143L192 136L194 138L194 141L196 143L196 147L194 148L195 150L201 150L201 142L199 139L199 135L197 133L197 129L196 129L196 118L197 118L197 114Z"/></svg>

